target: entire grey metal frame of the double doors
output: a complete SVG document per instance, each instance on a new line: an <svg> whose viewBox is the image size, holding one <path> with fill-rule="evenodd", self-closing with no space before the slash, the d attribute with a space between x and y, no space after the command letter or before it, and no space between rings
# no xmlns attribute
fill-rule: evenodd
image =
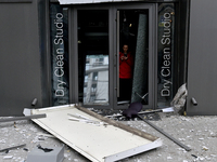
<svg viewBox="0 0 217 162"><path fill-rule="evenodd" d="M77 11L78 10L108 10L108 43L110 43L110 72L108 72L108 106L88 105L85 107L94 107L103 109L125 109L117 106L117 95L115 81L116 73L116 54L117 54L117 30L116 13L118 10L146 9L149 10L149 105L144 107L156 108L156 69L157 69L157 3L106 3L91 5L72 5L69 8L69 102L78 103L78 38L77 38Z"/></svg>

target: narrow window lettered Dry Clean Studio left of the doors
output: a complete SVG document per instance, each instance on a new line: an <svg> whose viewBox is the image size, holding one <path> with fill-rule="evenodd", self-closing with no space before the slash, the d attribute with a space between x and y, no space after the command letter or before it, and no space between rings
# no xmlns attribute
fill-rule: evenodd
<svg viewBox="0 0 217 162"><path fill-rule="evenodd" d="M50 4L52 105L68 104L68 10Z"/></svg>

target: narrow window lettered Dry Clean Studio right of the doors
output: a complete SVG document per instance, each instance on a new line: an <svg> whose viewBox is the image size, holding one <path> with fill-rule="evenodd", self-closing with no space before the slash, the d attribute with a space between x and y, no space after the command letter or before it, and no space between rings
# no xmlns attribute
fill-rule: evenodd
<svg viewBox="0 0 217 162"><path fill-rule="evenodd" d="M170 106L175 57L175 4L158 5L157 106Z"/></svg>

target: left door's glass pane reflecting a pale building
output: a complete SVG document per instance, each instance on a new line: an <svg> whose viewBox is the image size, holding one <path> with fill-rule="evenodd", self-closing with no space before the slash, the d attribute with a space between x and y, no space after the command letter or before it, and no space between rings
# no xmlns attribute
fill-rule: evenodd
<svg viewBox="0 0 217 162"><path fill-rule="evenodd" d="M77 14L79 103L108 105L108 10Z"/></svg>

